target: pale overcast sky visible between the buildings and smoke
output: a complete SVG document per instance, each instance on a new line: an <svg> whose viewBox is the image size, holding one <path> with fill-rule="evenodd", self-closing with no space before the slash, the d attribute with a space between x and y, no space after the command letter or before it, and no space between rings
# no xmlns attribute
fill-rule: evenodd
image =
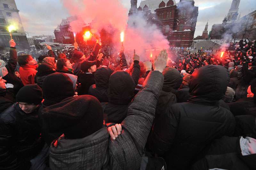
<svg viewBox="0 0 256 170"><path fill-rule="evenodd" d="M120 0L129 9L130 0ZM231 6L232 0L194 0L199 7L199 14L196 24L195 37L202 35L205 24L209 19L208 31L212 25L222 23L225 15ZM256 10L256 0L241 0L239 12L241 17ZM17 8L20 10L25 31L30 32L29 36L34 35L54 35L53 31L60 24L62 18L69 16L60 3L60 0L15 0ZM138 0L138 7L141 0ZM176 0L178 3L179 0Z"/></svg>

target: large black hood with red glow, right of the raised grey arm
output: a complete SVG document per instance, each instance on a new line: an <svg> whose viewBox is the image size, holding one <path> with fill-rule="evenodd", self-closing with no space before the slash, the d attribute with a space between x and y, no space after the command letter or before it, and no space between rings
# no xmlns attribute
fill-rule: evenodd
<svg viewBox="0 0 256 170"><path fill-rule="evenodd" d="M190 77L189 102L218 105L229 82L226 68L210 65L197 69Z"/></svg>

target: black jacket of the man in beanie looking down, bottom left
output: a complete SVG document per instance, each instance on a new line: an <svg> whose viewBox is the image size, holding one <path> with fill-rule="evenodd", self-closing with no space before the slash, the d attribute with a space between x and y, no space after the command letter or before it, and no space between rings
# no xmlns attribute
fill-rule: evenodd
<svg viewBox="0 0 256 170"><path fill-rule="evenodd" d="M29 169L43 148L37 111L26 114L18 103L0 113L0 169Z"/></svg>

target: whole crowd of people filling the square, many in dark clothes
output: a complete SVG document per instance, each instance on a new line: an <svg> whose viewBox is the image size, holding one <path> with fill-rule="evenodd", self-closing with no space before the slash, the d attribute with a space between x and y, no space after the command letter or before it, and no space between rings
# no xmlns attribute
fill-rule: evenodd
<svg viewBox="0 0 256 170"><path fill-rule="evenodd" d="M256 169L255 40L142 62L94 36L37 60L10 40L0 169Z"/></svg>

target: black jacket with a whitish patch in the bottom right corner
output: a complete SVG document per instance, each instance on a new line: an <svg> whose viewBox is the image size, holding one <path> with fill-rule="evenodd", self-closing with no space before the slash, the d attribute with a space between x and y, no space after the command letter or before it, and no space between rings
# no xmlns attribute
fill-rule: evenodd
<svg viewBox="0 0 256 170"><path fill-rule="evenodd" d="M251 137L223 136L214 140L204 152L204 157L192 166L192 170L256 169L256 139Z"/></svg>

